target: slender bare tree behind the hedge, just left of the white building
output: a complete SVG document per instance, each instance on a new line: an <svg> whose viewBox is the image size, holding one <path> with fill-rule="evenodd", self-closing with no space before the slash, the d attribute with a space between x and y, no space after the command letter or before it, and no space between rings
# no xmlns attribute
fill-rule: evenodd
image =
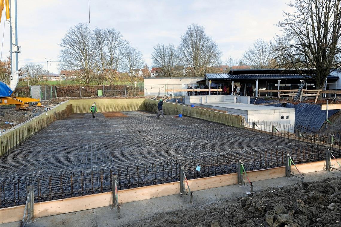
<svg viewBox="0 0 341 227"><path fill-rule="evenodd" d="M125 51L122 56L122 67L130 74L130 84L134 82L134 69L142 68L144 60L141 51L130 45L125 46Z"/></svg>

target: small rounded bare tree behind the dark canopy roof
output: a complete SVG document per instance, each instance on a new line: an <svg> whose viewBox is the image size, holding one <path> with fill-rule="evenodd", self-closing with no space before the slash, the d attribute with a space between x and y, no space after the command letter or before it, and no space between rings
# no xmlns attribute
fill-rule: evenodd
<svg viewBox="0 0 341 227"><path fill-rule="evenodd" d="M264 39L257 39L253 47L243 53L244 64L253 68L267 68L272 54L272 48Z"/></svg>

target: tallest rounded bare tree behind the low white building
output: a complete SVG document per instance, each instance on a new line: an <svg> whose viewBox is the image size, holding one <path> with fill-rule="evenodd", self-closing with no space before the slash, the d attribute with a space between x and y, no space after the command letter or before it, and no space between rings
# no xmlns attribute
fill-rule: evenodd
<svg viewBox="0 0 341 227"><path fill-rule="evenodd" d="M181 36L179 54L192 77L203 77L214 69L212 66L219 66L222 56L216 42L205 34L204 27L196 24L188 26Z"/></svg>

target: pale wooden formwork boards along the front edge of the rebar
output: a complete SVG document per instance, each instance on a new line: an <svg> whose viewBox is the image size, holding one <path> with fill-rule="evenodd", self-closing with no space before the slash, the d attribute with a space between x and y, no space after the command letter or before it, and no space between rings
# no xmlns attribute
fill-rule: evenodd
<svg viewBox="0 0 341 227"><path fill-rule="evenodd" d="M338 159L341 162L341 158ZM338 166L335 160L332 165ZM321 171L325 168L325 161L303 163L296 165L301 173ZM295 170L294 170L295 171ZM248 172L251 181L266 180L285 176L285 167L276 167ZM237 173L224 174L219 176L205 177L188 180L192 191L199 191L210 188L223 187L237 184ZM256 185L256 184L254 184ZM256 186L255 186L256 187ZM119 203L139 201L167 195L179 194L179 181L157 184L133 189L118 191ZM112 203L112 192L85 195L73 198L37 202L34 204L34 217L44 217L56 214L75 212L80 210L93 209L110 206ZM0 209L0 224L20 221L24 214L24 205Z"/></svg>

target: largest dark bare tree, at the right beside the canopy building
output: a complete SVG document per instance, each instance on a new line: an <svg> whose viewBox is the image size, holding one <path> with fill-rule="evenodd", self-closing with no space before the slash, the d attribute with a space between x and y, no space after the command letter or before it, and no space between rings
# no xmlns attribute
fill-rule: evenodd
<svg viewBox="0 0 341 227"><path fill-rule="evenodd" d="M295 13L284 13L283 36L275 38L274 52L279 62L314 78L321 89L331 70L340 64L340 0L294 0L288 4ZM310 69L302 71L300 69Z"/></svg>

